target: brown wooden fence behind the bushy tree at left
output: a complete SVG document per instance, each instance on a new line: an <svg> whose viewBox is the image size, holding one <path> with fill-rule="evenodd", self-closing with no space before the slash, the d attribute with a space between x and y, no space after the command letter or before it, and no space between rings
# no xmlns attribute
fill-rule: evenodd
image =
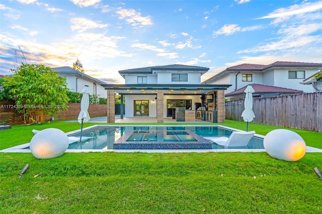
<svg viewBox="0 0 322 214"><path fill-rule="evenodd" d="M22 125L24 124L24 118L14 108L15 101L13 100L1 100L0 101L0 125ZM74 120L77 119L79 112L81 111L81 103L68 103L67 111L59 111L55 116L56 121L62 120ZM100 117L107 115L106 104L90 104L89 114L91 117ZM45 121L49 121L50 117L46 117Z"/></svg>

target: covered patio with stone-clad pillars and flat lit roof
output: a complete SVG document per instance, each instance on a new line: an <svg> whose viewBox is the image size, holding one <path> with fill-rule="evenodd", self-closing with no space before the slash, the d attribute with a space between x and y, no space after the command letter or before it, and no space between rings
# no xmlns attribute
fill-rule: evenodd
<svg viewBox="0 0 322 214"><path fill-rule="evenodd" d="M213 85L213 84L104 84L107 90L107 123L117 123L115 120L115 92L121 95L121 114L120 120L124 120L125 111L134 111L133 108L126 110L123 104L125 99L128 105L132 105L133 99L130 97L136 96L145 99L150 104L150 111L155 114L150 114L148 117L125 117L133 118L138 121L139 118L143 121L156 119L156 123L168 123L167 102L170 99L190 99L191 106L189 110L196 111L194 103L200 102L200 106L205 110L216 111L216 122L224 122L224 90L230 85ZM209 99L209 96L211 99ZM179 98L178 98L179 97ZM188 108L186 108L188 110ZM195 119L196 121L198 119ZM200 120L202 121L202 120ZM175 122L175 121L173 121ZM127 123L127 122L124 122ZM136 122L137 123L137 122ZM153 123L153 122L152 122ZM172 123L172 122L169 122Z"/></svg>

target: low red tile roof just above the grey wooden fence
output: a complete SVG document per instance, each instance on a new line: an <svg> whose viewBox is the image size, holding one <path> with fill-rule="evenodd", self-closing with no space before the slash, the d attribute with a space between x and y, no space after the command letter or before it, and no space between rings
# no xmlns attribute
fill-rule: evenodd
<svg viewBox="0 0 322 214"><path fill-rule="evenodd" d="M262 84L251 84L254 88L254 93L303 93L302 90L296 90L291 88L283 88L283 87L277 87L272 85L262 85ZM239 88L235 91L232 91L230 93L226 93L225 96L232 96L237 94L243 94L245 93L245 89L247 86Z"/></svg>

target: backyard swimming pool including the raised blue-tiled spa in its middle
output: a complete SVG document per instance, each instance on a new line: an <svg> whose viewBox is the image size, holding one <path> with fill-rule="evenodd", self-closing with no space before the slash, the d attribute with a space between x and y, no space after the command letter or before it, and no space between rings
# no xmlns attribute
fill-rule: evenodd
<svg viewBox="0 0 322 214"><path fill-rule="evenodd" d="M223 126L95 126L83 131L90 139L72 143L67 150L229 149L203 137L229 137L233 131ZM243 149L264 149L263 138L254 136Z"/></svg>

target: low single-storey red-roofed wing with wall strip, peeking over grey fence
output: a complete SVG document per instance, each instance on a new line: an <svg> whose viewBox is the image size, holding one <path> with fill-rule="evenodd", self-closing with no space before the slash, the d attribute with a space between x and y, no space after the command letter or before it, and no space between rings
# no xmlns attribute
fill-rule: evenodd
<svg viewBox="0 0 322 214"><path fill-rule="evenodd" d="M303 93L302 90L295 90L290 88L283 88L271 85L262 85L262 84L251 84L254 93L253 97L267 97L267 96L279 96L279 95L289 95L294 93ZM246 93L244 92L247 86L239 88L235 91L230 93L226 93L225 97L229 98L230 100L237 100L237 99L244 99Z"/></svg>

